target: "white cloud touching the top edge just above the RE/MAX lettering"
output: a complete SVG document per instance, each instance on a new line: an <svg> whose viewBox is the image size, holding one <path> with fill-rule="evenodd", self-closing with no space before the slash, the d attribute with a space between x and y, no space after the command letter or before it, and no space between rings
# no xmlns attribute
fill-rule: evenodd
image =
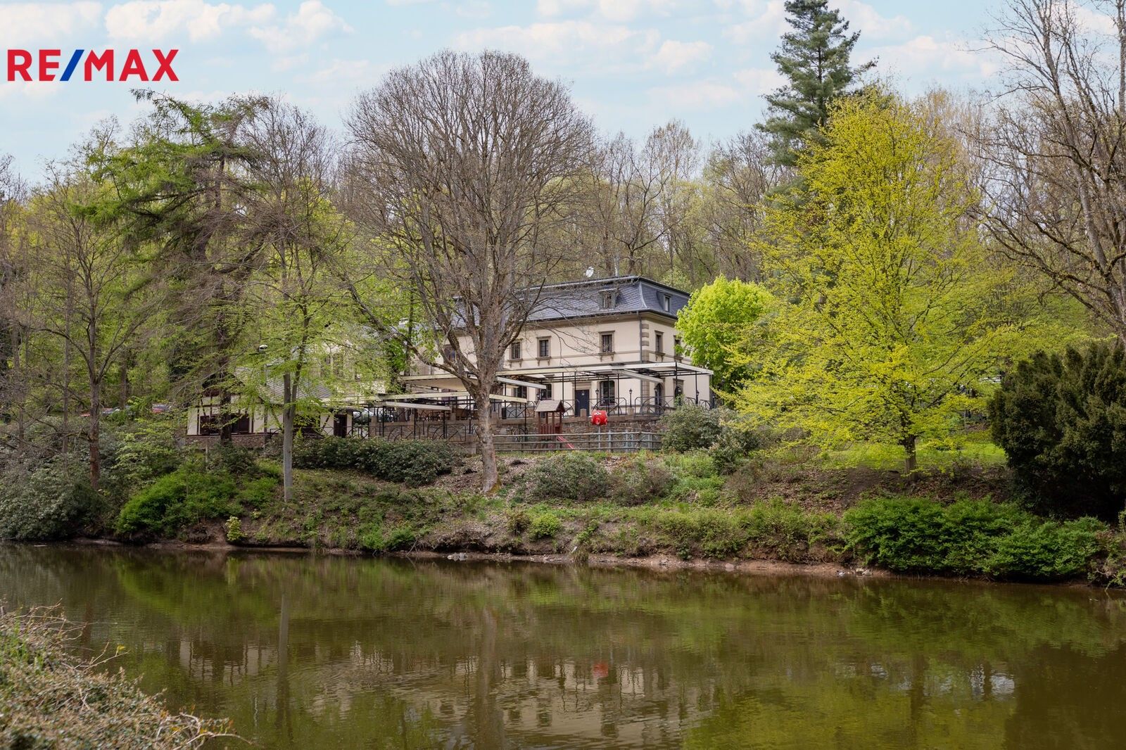
<svg viewBox="0 0 1126 750"><path fill-rule="evenodd" d="M203 0L132 0L106 11L111 38L157 42L187 33L193 42L211 39L229 28L261 24L274 16L274 6L236 6Z"/></svg>

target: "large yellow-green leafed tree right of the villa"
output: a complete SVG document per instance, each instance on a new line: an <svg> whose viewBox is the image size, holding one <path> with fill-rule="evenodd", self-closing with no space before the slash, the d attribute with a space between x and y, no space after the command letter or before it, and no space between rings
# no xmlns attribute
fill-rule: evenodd
<svg viewBox="0 0 1126 750"><path fill-rule="evenodd" d="M963 150L923 104L887 92L841 100L803 153L799 195L768 211L763 247L781 301L745 412L820 445L955 440L1002 363L1043 315L1015 314L1012 278L971 221Z"/></svg>

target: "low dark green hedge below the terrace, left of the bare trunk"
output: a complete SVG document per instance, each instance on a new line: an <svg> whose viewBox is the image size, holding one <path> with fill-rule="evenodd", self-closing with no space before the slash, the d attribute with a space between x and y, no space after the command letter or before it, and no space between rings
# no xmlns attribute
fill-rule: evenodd
<svg viewBox="0 0 1126 750"><path fill-rule="evenodd" d="M293 463L301 468L351 468L387 482L422 486L453 471L457 454L438 440L331 437L300 441Z"/></svg>

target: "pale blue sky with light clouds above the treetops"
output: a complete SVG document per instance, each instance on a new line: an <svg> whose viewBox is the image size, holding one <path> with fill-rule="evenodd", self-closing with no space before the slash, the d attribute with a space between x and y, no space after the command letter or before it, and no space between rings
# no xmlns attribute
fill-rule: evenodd
<svg viewBox="0 0 1126 750"><path fill-rule="evenodd" d="M982 89L995 61L974 50L1001 2L837 0L861 33L858 59L914 93ZM0 0L3 48L178 47L193 99L285 95L338 127L356 91L443 47L519 52L572 86L599 128L642 137L679 118L705 142L750 127L778 84L769 55L783 0ZM127 83L9 83L0 74L0 153L34 179L97 122L141 107Z"/></svg>

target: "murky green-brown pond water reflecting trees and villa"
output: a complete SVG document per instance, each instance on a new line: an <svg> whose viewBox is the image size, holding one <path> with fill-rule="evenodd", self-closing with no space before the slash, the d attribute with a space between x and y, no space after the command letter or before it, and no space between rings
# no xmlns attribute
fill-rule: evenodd
<svg viewBox="0 0 1126 750"><path fill-rule="evenodd" d="M1094 589L0 546L0 597L262 748L1126 747Z"/></svg>

